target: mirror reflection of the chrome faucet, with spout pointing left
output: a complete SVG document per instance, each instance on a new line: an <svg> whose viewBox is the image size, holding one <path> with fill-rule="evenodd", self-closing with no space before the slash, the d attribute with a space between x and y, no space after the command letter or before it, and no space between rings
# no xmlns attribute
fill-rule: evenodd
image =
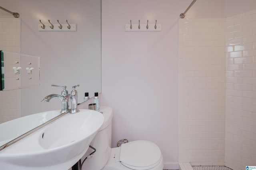
<svg viewBox="0 0 256 170"><path fill-rule="evenodd" d="M60 113L67 112L69 110L68 109L68 101L63 101L64 97L68 94L68 91L66 90L66 86L52 85L52 87L62 87L63 90L61 92L61 95L57 95L57 94L48 95L48 96L44 97L42 102L49 102L50 99L57 97L58 99L60 99L60 101L62 103L62 109L61 109Z"/></svg>

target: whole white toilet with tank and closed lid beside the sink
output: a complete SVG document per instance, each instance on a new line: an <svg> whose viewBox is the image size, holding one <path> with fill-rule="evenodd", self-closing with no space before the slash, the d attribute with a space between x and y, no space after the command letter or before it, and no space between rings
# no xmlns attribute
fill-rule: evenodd
<svg viewBox="0 0 256 170"><path fill-rule="evenodd" d="M104 123L90 143L96 152L85 160L82 170L163 170L162 153L153 142L136 140L111 148L112 108L102 106L100 110Z"/></svg>

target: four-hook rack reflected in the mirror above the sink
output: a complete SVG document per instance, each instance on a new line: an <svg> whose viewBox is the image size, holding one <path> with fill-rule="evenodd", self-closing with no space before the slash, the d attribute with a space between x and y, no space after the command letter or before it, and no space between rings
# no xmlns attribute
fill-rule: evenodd
<svg viewBox="0 0 256 170"><path fill-rule="evenodd" d="M49 20L48 24L43 24L42 20L39 21L38 31L76 31L76 24L68 24L68 20L66 20L66 24L61 24L59 20L57 20L57 24L50 24Z"/></svg>

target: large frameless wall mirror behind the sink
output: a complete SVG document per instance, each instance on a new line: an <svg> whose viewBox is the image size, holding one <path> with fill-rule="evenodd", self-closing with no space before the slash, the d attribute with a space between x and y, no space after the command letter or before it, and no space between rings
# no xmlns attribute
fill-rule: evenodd
<svg viewBox="0 0 256 170"><path fill-rule="evenodd" d="M20 17L0 9L0 50L39 56L40 86L0 91L0 123L60 110L57 98L41 102L49 94L61 94L62 88L52 84L67 86L69 93L79 84L78 103L85 92L90 97L101 93L101 0L2 0L1 6ZM39 20L76 24L76 31L39 32Z"/></svg>

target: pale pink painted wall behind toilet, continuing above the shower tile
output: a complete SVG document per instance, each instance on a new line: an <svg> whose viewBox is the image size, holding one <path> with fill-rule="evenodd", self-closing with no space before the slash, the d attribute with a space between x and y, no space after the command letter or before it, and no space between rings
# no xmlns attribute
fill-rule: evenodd
<svg viewBox="0 0 256 170"><path fill-rule="evenodd" d="M164 169L178 169L178 20L190 3L102 1L102 104L114 111L112 146L122 138L151 140ZM225 3L198 0L186 16L224 17ZM125 32L130 20L157 20L162 31Z"/></svg>

